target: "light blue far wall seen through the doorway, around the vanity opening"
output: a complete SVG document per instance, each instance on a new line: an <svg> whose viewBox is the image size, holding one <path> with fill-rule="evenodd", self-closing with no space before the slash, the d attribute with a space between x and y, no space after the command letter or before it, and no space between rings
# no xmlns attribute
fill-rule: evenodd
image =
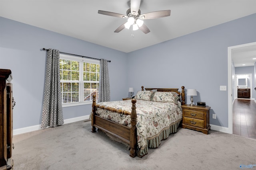
<svg viewBox="0 0 256 170"><path fill-rule="evenodd" d="M254 66L245 66L245 67L235 67L235 74L252 74L252 80L248 78L248 87L250 87L250 82L252 81L252 96L251 98L256 98L256 91L254 90L255 86L255 74L254 74Z"/></svg>

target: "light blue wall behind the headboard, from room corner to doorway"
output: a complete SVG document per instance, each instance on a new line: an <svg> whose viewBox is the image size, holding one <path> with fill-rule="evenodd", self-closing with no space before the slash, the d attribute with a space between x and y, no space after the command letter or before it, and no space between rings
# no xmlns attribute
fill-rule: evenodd
<svg viewBox="0 0 256 170"><path fill-rule="evenodd" d="M253 14L131 52L129 86L196 89L194 102L211 107L210 124L228 127L228 47L255 41ZM227 91L220 91L220 86L227 86Z"/></svg>

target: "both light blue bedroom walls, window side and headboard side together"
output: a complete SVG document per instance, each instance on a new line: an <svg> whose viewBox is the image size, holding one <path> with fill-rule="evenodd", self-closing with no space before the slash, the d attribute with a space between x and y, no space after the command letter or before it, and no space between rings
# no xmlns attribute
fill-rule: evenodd
<svg viewBox="0 0 256 170"><path fill-rule="evenodd" d="M44 48L54 48L109 63L111 100L140 86L195 88L194 102L211 107L210 124L228 127L228 47L256 41L256 14L210 27L131 53L0 18L0 68L12 70L14 129L41 123L46 63ZM170 30L171 31L171 30ZM96 37L98 38L98 37ZM129 66L129 67L128 67ZM227 87L228 88L228 87ZM189 96L187 103L189 104ZM91 106L65 107L64 119L88 115ZM217 119L212 119L212 113Z"/></svg>

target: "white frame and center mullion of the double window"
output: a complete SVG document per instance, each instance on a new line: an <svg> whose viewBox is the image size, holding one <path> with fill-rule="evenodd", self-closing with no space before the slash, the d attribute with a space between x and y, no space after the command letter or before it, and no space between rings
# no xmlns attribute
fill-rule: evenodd
<svg viewBox="0 0 256 170"><path fill-rule="evenodd" d="M60 54L60 59L78 61L79 62L79 81L60 80L60 82L73 82L73 83L77 82L77 83L79 83L79 102L64 103L64 104L62 104L62 107L92 104L92 100L84 101L84 83L86 83L86 82L99 83L99 81L84 81L83 80L83 71L84 71L83 65L84 65L84 63L100 64L100 61L99 60L94 60L94 59L82 58L82 57L74 57L72 55L65 55L65 54ZM96 101L98 101L98 100L96 100Z"/></svg>

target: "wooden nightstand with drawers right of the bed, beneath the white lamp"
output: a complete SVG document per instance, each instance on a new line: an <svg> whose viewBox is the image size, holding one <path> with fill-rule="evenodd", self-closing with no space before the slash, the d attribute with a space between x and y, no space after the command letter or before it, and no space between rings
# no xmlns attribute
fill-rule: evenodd
<svg viewBox="0 0 256 170"><path fill-rule="evenodd" d="M210 130L209 111L211 107L182 105L182 128L194 129L208 134Z"/></svg>

